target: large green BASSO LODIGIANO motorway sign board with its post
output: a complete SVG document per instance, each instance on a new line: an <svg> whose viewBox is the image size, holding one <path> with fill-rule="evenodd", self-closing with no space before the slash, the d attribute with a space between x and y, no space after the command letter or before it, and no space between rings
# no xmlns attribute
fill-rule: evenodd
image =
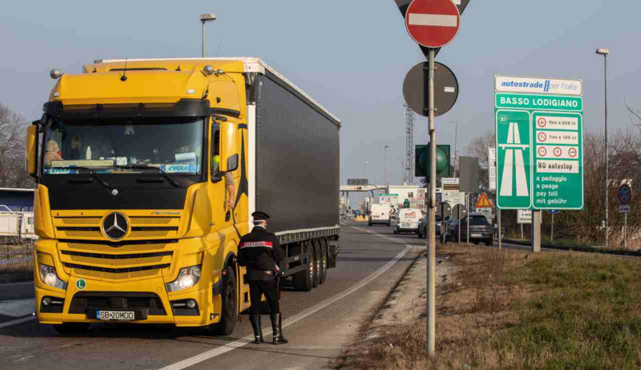
<svg viewBox="0 0 641 370"><path fill-rule="evenodd" d="M583 81L494 76L497 209L583 209Z"/></svg>

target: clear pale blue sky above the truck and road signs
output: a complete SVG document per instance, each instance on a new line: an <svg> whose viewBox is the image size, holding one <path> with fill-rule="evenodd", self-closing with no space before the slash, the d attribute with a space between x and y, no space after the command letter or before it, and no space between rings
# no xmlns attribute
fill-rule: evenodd
<svg viewBox="0 0 641 370"><path fill-rule="evenodd" d="M368 175L401 179L401 86L424 60L393 0L325 1L12 1L0 14L0 102L40 117L51 68L80 72L99 58L200 56L203 12L207 54L259 56L342 119L341 181ZM584 80L585 127L603 129L603 57L609 47L610 124L629 126L624 100L641 108L641 1L471 0L456 39L437 60L458 77L456 106L437 119L438 143L458 149L494 127L494 74ZM417 120L415 142L426 141ZM589 159L587 159L589 160Z"/></svg>

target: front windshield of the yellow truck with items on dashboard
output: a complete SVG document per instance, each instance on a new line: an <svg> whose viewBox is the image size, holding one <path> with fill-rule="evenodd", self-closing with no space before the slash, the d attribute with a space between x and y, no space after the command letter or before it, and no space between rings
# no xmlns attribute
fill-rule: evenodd
<svg viewBox="0 0 641 370"><path fill-rule="evenodd" d="M203 131L203 118L54 121L44 135L42 173L82 173L74 166L131 173L153 166L170 174L199 174Z"/></svg>

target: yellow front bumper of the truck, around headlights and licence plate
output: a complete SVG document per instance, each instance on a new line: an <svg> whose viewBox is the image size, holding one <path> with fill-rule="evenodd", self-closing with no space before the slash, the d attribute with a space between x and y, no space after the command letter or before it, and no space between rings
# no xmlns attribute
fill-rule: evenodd
<svg viewBox="0 0 641 370"><path fill-rule="evenodd" d="M73 268L63 267L58 253L58 242L41 239L35 246L34 260L54 266L58 277L67 282L66 289L47 286L35 269L34 284L36 314L40 323L104 323L96 319L97 310L133 311L135 319L108 321L126 323L172 324L176 326L204 326L217 323L222 312L222 275L212 266L212 254L217 248L204 250L199 238L180 239L173 248L171 268L156 276L110 280L78 275ZM207 258L206 256L210 256ZM167 293L165 284L176 278L179 268L201 264L201 277L188 289ZM210 273L204 273L210 271ZM86 270L85 270L86 272ZM48 297L49 305L43 298ZM188 309L185 303L194 300L196 307Z"/></svg>

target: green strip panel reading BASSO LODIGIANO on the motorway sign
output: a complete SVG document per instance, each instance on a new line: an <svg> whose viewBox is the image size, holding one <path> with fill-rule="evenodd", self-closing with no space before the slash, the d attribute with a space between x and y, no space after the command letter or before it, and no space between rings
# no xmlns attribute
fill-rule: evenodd
<svg viewBox="0 0 641 370"><path fill-rule="evenodd" d="M583 111L583 97L496 93L496 108Z"/></svg>

